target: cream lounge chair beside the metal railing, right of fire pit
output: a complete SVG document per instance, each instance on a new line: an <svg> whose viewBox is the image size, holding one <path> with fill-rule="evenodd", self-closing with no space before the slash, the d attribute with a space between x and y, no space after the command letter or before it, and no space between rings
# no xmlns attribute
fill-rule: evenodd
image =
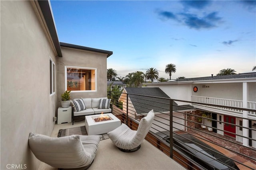
<svg viewBox="0 0 256 170"><path fill-rule="evenodd" d="M154 111L151 110L146 117L140 120L138 130L131 130L127 125L122 125L108 132L112 142L123 152L135 152L140 149L140 144L148 134L154 120Z"/></svg>

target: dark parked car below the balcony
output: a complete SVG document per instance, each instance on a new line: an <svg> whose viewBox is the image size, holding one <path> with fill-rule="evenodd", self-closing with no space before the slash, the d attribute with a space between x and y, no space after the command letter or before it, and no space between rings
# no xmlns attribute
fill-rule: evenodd
<svg viewBox="0 0 256 170"><path fill-rule="evenodd" d="M170 132L157 132L170 145ZM235 162L190 134L173 135L173 146L207 170L239 170ZM232 167L232 168L230 168Z"/></svg>

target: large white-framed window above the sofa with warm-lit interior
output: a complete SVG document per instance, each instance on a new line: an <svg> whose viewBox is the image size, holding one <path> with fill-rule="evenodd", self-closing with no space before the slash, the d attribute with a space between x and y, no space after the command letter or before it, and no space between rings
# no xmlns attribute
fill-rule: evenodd
<svg viewBox="0 0 256 170"><path fill-rule="evenodd" d="M96 68L65 66L66 90L96 90Z"/></svg>

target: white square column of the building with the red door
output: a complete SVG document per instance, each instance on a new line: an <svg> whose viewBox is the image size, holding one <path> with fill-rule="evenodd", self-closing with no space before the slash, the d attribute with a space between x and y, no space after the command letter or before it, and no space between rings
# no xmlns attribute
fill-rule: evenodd
<svg viewBox="0 0 256 170"><path fill-rule="evenodd" d="M248 101L248 84L247 82L243 82L243 108L247 108L247 101ZM243 111L243 118L248 118L248 111ZM243 127L249 127L248 119L243 119ZM249 130L243 128L243 136L249 137ZM249 145L249 139L243 137L243 145Z"/></svg>

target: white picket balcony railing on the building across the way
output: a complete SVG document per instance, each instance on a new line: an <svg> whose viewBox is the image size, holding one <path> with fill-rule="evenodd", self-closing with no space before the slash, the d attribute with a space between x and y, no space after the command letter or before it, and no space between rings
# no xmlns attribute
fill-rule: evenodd
<svg viewBox="0 0 256 170"><path fill-rule="evenodd" d="M243 107L242 100L230 100L230 99L210 98L210 97L202 97L202 96L191 96L191 97L192 97L192 102L200 102L204 104L216 104L216 105L231 106L231 107ZM209 107L242 113L242 110L238 110L238 109L230 109L230 108L215 107L215 106L209 106Z"/></svg>

